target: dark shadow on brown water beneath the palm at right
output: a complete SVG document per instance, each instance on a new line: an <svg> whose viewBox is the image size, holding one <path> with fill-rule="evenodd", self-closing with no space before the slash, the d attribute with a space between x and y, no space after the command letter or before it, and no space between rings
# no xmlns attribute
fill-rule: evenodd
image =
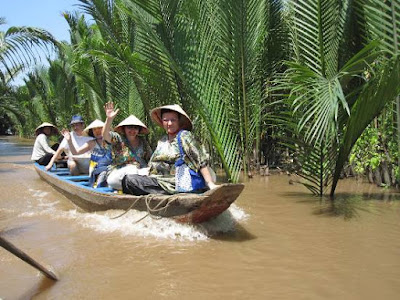
<svg viewBox="0 0 400 300"><path fill-rule="evenodd" d="M357 218L360 212L377 213L379 207L375 204L400 202L400 194L393 192L382 193L338 193L332 200L328 196L323 198L306 193L286 193L286 196L297 198L297 203L313 205L312 214L327 217L343 217L345 220ZM298 198L302 198L298 200Z"/></svg>

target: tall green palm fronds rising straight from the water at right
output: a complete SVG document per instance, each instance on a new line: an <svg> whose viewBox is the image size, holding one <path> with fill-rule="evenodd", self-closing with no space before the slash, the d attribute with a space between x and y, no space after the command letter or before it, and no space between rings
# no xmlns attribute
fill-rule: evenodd
<svg viewBox="0 0 400 300"><path fill-rule="evenodd" d="M322 196L332 181L338 145L350 115L354 95L349 83L377 57L377 45L371 43L343 61L339 45L351 22L349 2L300 0L290 4L294 51L277 83L278 89L288 91L283 102L290 113L283 119L292 133L288 142L297 148L297 174L306 180L308 189Z"/></svg>

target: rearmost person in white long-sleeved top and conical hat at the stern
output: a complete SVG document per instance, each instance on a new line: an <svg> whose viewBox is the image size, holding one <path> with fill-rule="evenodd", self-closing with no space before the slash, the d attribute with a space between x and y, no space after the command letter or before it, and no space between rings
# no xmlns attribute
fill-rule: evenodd
<svg viewBox="0 0 400 300"><path fill-rule="evenodd" d="M50 147L49 137L58 134L58 129L51 123L44 122L35 129L36 139L33 145L31 160L39 165L47 165L53 154L56 153L58 144Z"/></svg>

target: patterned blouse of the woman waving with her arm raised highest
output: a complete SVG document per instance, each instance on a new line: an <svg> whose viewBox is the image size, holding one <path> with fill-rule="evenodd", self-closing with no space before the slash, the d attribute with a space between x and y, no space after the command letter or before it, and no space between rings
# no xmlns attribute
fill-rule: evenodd
<svg viewBox="0 0 400 300"><path fill-rule="evenodd" d="M109 172L114 168L122 168L127 164L136 165L138 168L146 168L152 150L145 138L139 137L140 142L136 148L130 147L130 143L124 134L110 132L112 163Z"/></svg>

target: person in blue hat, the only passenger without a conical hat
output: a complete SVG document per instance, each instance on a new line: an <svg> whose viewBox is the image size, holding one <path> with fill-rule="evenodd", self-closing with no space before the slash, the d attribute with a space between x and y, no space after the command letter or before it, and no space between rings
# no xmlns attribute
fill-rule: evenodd
<svg viewBox="0 0 400 300"><path fill-rule="evenodd" d="M86 142L93 140L92 137L85 136L83 134L83 129L85 128L85 122L80 115L72 116L70 126L73 131L71 132L71 139L74 143L75 149L80 148ZM71 175L88 174L89 173L89 161L90 152L85 152L80 155L73 155L69 151L69 146L67 140L64 138L58 147L56 153L53 155L52 159L46 166L46 170L50 170L53 167L54 162L61 153L65 151L68 156L68 169Z"/></svg>

